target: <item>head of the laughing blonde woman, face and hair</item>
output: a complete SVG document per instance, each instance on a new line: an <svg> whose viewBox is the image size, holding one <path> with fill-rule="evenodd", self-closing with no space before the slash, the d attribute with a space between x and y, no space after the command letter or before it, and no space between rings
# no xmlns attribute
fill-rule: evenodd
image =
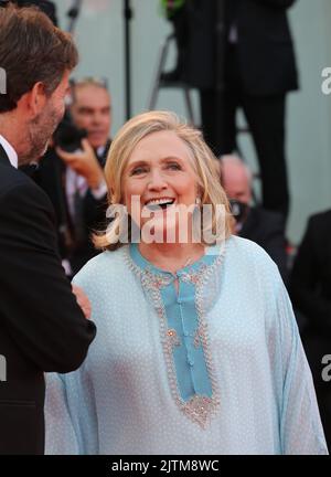
<svg viewBox="0 0 331 477"><path fill-rule="evenodd" d="M231 233L232 216L225 192L217 181L215 158L201 132L181 123L174 114L151 112L128 121L110 147L105 176L111 191L113 210L122 204L128 211L129 233L126 229L122 235L119 232L124 223L127 224L127 216L119 214L106 233L95 237L97 247L120 247L120 236L129 235L130 241L132 225L143 232L147 222L149 226L145 230L153 231L159 239L156 242L168 242L169 245L167 236L171 237L171 243L188 236L186 242L192 245L194 226L190 212L197 204L201 211L205 204L212 209L211 214L205 213L204 221L196 222L202 242L209 232L215 234L218 231L222 239ZM207 244L211 245L211 241Z"/></svg>

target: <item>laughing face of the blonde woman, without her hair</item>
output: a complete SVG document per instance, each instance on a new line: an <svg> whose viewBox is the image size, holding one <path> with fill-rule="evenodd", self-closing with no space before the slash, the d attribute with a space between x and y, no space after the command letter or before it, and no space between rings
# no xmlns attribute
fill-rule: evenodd
<svg viewBox="0 0 331 477"><path fill-rule="evenodd" d="M169 130L151 132L141 139L126 166L122 191L129 214L136 222L139 219L141 226L153 218L156 233L161 232L160 229L163 233L178 229L178 214L169 214L167 210L170 212L172 205L195 204L197 195L196 174L188 146Z"/></svg>

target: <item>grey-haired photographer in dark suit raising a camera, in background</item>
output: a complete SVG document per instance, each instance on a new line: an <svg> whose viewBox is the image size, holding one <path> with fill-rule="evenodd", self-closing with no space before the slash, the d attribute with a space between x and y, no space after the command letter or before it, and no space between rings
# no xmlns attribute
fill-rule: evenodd
<svg viewBox="0 0 331 477"><path fill-rule="evenodd" d="M54 205L61 256L71 276L97 254L90 235L106 223L107 186L103 169L111 127L106 85L93 78L74 82L70 114L73 125L86 131L86 138L72 153L60 147L50 148L35 180ZM70 135L66 137L70 142Z"/></svg>

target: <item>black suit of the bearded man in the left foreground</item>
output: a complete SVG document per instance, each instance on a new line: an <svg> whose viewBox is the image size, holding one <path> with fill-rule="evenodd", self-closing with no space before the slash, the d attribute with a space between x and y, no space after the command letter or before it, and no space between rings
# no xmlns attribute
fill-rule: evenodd
<svg viewBox="0 0 331 477"><path fill-rule="evenodd" d="M0 146L0 454L43 454L44 372L77 369L95 337L55 253L53 215Z"/></svg>

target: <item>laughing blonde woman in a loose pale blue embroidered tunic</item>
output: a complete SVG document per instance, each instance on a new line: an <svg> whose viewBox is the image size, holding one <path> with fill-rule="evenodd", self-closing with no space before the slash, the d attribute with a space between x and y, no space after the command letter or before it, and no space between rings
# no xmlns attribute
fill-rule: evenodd
<svg viewBox="0 0 331 477"><path fill-rule="evenodd" d="M277 266L231 235L213 160L166 112L111 144L114 220L74 280L99 332L78 371L49 378L47 453L327 453Z"/></svg>

